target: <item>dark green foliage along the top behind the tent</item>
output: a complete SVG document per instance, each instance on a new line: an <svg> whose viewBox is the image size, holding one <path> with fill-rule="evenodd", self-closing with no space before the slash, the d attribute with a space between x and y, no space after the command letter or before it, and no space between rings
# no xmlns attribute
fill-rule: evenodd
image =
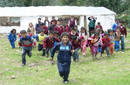
<svg viewBox="0 0 130 85"><path fill-rule="evenodd" d="M130 0L0 0L0 6L104 6L116 13L130 8Z"/></svg>

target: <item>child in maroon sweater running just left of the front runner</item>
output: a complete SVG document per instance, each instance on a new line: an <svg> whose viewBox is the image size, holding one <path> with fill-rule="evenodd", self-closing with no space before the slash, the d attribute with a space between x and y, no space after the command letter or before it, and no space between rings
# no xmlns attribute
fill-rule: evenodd
<svg viewBox="0 0 130 85"><path fill-rule="evenodd" d="M49 37L46 37L43 41L43 49L46 50L47 57L49 57L49 51L51 52L51 49L54 46L55 41L59 42L60 40L54 37L53 32L49 32Z"/></svg>

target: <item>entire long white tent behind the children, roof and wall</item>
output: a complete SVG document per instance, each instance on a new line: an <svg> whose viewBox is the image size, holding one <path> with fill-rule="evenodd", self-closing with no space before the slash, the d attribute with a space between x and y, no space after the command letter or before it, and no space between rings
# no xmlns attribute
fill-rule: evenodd
<svg viewBox="0 0 130 85"><path fill-rule="evenodd" d="M88 25L89 21L84 23L84 18L89 16L97 17L96 22L100 22L104 30L110 29L115 21L116 13L105 7L78 7L78 6L44 6L44 7L1 7L0 17L20 17L20 26L0 26L0 33L8 33L12 28L19 32L27 29L28 24L35 24L38 17L48 16L80 16L79 28Z"/></svg>

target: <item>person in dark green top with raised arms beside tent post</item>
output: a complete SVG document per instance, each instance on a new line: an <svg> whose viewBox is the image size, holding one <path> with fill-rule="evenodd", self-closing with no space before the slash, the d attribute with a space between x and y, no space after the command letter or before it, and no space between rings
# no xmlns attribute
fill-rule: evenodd
<svg viewBox="0 0 130 85"><path fill-rule="evenodd" d="M91 36L94 31L95 31L95 22L96 22L96 17L89 17L88 20L89 20L89 36Z"/></svg>

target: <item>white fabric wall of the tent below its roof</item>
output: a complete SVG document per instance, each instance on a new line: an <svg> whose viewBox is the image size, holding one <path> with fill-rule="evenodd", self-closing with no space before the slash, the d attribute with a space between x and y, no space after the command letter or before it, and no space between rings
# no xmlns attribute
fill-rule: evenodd
<svg viewBox="0 0 130 85"><path fill-rule="evenodd" d="M41 17L41 16L21 17L20 18L20 22L21 22L20 26L0 26L0 33L9 33L10 30L12 30L12 29L16 29L17 33L20 32L20 30L23 30L23 29L27 30L30 22L32 22L34 27L35 27L35 24L37 23L37 19L39 17ZM89 16L86 16L87 26L89 24L88 17ZM111 29L112 25L115 21L114 15L102 15L102 16L95 16L95 17L97 17L96 24L97 24L97 22L100 22L101 25L103 26L104 30ZM45 17L42 16L41 18L42 18L42 22L43 22ZM49 18L49 21L50 21L52 17L48 17L48 18ZM57 17L56 17L56 19L57 19ZM80 31L80 28L82 26L84 26L84 16L80 17L80 25L78 26L79 31Z"/></svg>

